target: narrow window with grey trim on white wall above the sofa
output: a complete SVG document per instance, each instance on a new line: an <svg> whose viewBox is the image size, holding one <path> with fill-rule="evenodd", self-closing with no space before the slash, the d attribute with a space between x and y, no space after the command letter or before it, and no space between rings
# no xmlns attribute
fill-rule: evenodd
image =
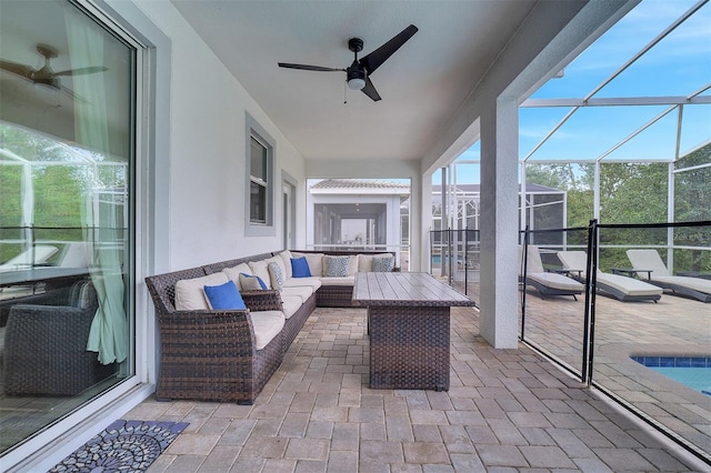
<svg viewBox="0 0 711 473"><path fill-rule="evenodd" d="M247 114L247 236L274 235L274 140Z"/></svg>

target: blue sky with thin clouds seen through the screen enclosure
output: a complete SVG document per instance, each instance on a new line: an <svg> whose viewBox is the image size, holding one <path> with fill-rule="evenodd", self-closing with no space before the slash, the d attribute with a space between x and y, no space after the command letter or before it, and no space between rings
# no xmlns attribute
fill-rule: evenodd
<svg viewBox="0 0 711 473"><path fill-rule="evenodd" d="M574 59L565 68L563 78L551 79L531 98L570 99L588 95L694 4L695 0L643 0ZM711 4L707 3L593 97L687 97L710 83ZM711 91L707 90L703 95L711 97ZM594 160L668 108L581 108L531 160ZM569 108L521 109L520 158L527 157L569 111ZM611 153L607 160L673 158L678 118L678 110L673 110ZM711 104L685 105L681 152L709 140ZM475 143L460 160L478 160L479 157L479 143ZM472 172L469 179L478 182L477 174ZM440 180L437 172L433 182ZM459 182L462 182L461 175Z"/></svg>

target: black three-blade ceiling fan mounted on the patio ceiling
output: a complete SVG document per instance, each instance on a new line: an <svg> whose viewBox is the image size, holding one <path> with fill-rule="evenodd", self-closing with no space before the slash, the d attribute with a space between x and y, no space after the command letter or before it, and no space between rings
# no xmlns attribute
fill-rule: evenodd
<svg viewBox="0 0 711 473"><path fill-rule="evenodd" d="M346 81L350 89L361 90L365 95L378 101L381 100L381 98L373 87L373 83L370 81L370 76L417 32L418 28L414 24L410 24L408 28L390 39L390 41L361 59L358 59L358 53L363 50L363 40L361 38L349 39L348 49L353 51L354 59L351 66L346 69L292 64L289 62L279 62L279 67L317 72L346 72Z"/></svg>

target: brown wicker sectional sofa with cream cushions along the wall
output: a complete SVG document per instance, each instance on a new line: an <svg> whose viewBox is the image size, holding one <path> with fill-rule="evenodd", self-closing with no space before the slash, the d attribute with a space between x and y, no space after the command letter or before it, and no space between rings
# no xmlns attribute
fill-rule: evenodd
<svg viewBox="0 0 711 473"><path fill-rule="evenodd" d="M348 273L327 271L343 256ZM294 278L291 260L301 258L311 275ZM146 278L161 338L157 399L252 404L313 309L351 306L354 273L374 259L394 263L392 253L281 251ZM247 310L211 309L204 286L228 281Z"/></svg>

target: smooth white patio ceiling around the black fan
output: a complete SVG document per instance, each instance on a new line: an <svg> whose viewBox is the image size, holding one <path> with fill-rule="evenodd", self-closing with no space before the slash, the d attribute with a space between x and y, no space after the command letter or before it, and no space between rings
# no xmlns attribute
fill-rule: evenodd
<svg viewBox="0 0 711 473"><path fill-rule="evenodd" d="M421 159L529 14L534 0L172 0L306 159ZM382 97L344 92L346 68L409 24L419 32L372 82ZM344 93L348 103L343 103Z"/></svg>

